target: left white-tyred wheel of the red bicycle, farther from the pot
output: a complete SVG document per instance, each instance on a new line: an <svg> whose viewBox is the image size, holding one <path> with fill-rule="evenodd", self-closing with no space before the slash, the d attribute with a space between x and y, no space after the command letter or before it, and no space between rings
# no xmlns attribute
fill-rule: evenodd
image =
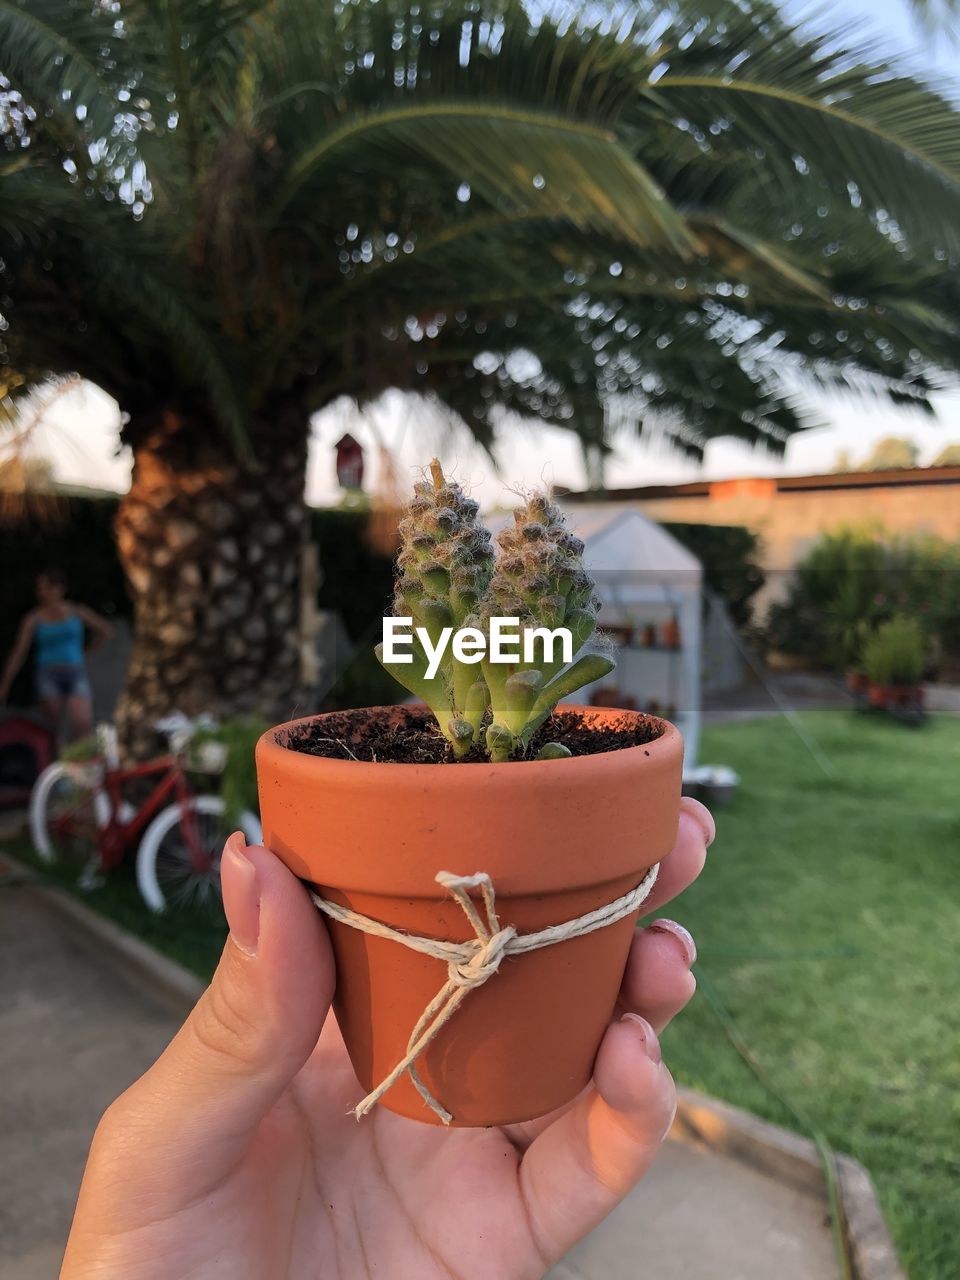
<svg viewBox="0 0 960 1280"><path fill-rule="evenodd" d="M29 832L45 863L76 869L81 881L93 882L100 870L97 831L110 819L110 801L82 773L65 764L50 764L33 783L29 796Z"/></svg>

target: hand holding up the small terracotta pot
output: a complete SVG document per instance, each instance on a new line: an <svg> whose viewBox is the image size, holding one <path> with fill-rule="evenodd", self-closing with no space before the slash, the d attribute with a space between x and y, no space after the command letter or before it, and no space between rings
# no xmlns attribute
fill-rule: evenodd
<svg viewBox="0 0 960 1280"><path fill-rule="evenodd" d="M696 878L713 829L682 801L648 911ZM532 1280L653 1164L676 1110L657 1032L695 987L678 925L634 940L593 1083L570 1107L493 1129L383 1107L357 1123L320 914L239 835L221 881L218 970L100 1121L61 1280Z"/></svg>

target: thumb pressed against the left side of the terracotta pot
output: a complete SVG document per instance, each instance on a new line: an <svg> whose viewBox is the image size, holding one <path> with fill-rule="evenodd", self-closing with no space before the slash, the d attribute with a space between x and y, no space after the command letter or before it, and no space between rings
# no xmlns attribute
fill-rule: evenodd
<svg viewBox="0 0 960 1280"><path fill-rule="evenodd" d="M156 1064L114 1103L180 1170L219 1178L312 1052L334 963L303 886L230 836L220 864L230 936L210 987ZM113 1108L111 1108L113 1110ZM147 1130L147 1132L145 1132Z"/></svg>

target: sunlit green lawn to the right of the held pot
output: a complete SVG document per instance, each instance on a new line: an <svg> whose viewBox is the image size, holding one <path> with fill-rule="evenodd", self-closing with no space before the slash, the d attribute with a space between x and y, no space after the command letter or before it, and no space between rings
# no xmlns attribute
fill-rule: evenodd
<svg viewBox="0 0 960 1280"><path fill-rule="evenodd" d="M812 712L710 728L740 792L671 913L777 1091L873 1175L911 1280L960 1275L960 719ZM698 993L678 1079L790 1125Z"/></svg>

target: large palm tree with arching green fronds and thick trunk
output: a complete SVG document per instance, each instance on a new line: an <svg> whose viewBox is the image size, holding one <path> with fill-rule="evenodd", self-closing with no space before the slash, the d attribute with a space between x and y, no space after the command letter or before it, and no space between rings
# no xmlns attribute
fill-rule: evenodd
<svg viewBox="0 0 960 1280"><path fill-rule="evenodd" d="M782 449L812 383L923 408L952 376L948 100L768 0L582 14L0 0L0 358L125 415L128 741L289 708L335 397L699 456Z"/></svg>

